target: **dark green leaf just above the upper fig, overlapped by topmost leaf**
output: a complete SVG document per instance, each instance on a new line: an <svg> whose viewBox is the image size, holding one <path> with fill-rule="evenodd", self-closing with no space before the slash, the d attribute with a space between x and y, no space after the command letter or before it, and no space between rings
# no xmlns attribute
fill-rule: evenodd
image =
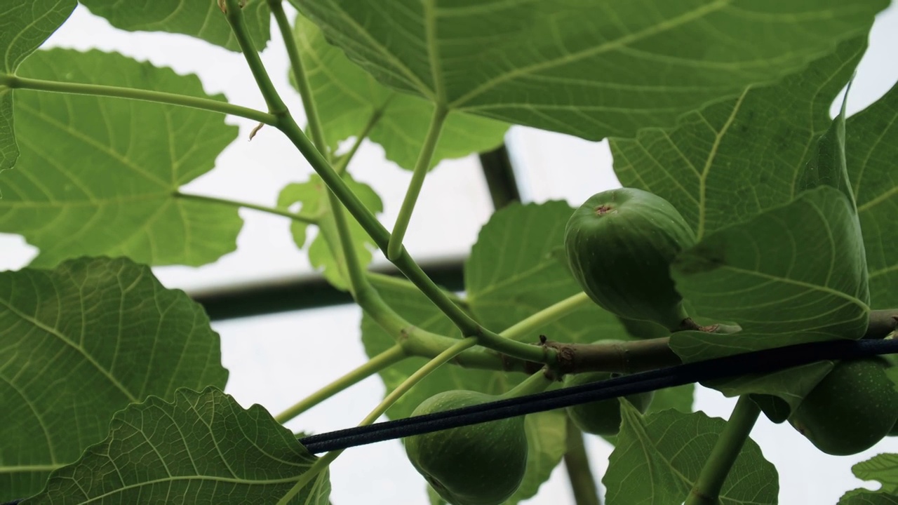
<svg viewBox="0 0 898 505"><path fill-rule="evenodd" d="M788 203L866 48L866 37L846 41L800 74L687 114L676 128L613 138L614 171L624 186L673 203L699 238Z"/></svg>

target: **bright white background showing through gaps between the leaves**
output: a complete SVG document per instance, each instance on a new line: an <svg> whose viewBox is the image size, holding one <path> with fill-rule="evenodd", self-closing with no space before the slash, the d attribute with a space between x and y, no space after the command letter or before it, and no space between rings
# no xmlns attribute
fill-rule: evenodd
<svg viewBox="0 0 898 505"><path fill-rule="evenodd" d="M225 93L232 102L264 109L258 89L241 55L212 47L200 40L162 33L118 31L79 6L69 22L48 41L48 46L115 50L133 58L171 66L180 73L200 76L210 93ZM849 112L858 111L885 93L898 80L894 49L898 47L898 10L882 14L870 49L858 68L851 89ZM298 116L302 107L286 81L286 53L277 42L269 44L263 60L278 89ZM253 141L245 139L255 125L229 119L241 127L241 137L219 158L216 170L189 184L186 190L224 198L273 205L277 192L288 182L301 182L312 173L293 146L274 130L263 129ZM591 143L534 130L513 128L507 143L512 150L524 199L568 199L578 205L599 190L619 185L612 173L606 143ZM381 195L387 226L395 221L409 173L383 158L379 146L365 143L353 164L357 179L368 182ZM446 209L451 209L447 212ZM489 193L476 157L447 161L427 178L407 246L418 261L460 258L471 248L491 212ZM314 275L303 252L287 233L285 218L242 210L246 224L239 250L199 269L155 269L170 288L205 290L221 286L287 276ZM0 270L25 266L36 253L18 236L0 234ZM384 263L383 257L375 260ZM360 311L339 306L283 315L269 315L215 323L222 335L225 367L231 370L227 392L244 406L260 403L276 414L321 385L357 367L365 360L359 339ZM327 346L311 347L326 340ZM332 346L332 347L331 347ZM322 359L329 348L341 359ZM377 377L339 394L288 423L292 430L323 432L357 424L383 397ZM735 402L715 391L701 389L696 409L726 417ZM777 465L780 502L834 504L841 494L863 485L850 466L880 452L898 452L898 439L887 439L856 456L826 456L818 452L788 424L773 425L762 416L753 439L764 456ZM587 438L594 471L601 478L611 447ZM349 449L331 466L332 501L337 505L365 503L427 503L425 483L411 467L398 441ZM875 488L876 486L871 486ZM567 476L559 465L540 495L526 503L572 503ZM568 497L568 500L561 500Z"/></svg>

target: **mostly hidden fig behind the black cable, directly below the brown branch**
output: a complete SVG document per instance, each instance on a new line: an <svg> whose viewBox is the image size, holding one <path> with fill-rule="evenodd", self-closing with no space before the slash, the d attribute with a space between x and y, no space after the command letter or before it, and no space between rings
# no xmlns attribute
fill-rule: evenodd
<svg viewBox="0 0 898 505"><path fill-rule="evenodd" d="M612 377L607 372L585 372L582 374L568 375L564 378L565 387L572 385L584 385L592 382L606 380ZM646 412L648 405L655 397L654 391L648 393L629 394L624 396L639 412ZM577 428L584 433L613 437L621 430L621 402L617 398L600 400L598 402L580 403L566 409L568 417Z"/></svg>

